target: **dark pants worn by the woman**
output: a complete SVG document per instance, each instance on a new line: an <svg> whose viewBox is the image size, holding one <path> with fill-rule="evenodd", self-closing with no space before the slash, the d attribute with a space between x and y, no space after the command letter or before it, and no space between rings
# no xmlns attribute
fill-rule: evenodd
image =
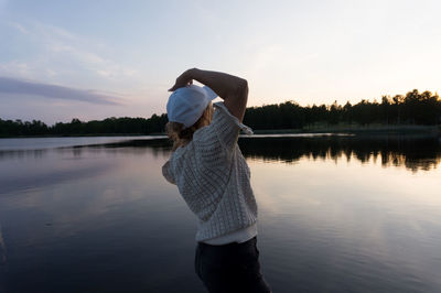
<svg viewBox="0 0 441 293"><path fill-rule="evenodd" d="M243 243L197 242L194 267L209 292L270 292L260 272L256 237Z"/></svg>

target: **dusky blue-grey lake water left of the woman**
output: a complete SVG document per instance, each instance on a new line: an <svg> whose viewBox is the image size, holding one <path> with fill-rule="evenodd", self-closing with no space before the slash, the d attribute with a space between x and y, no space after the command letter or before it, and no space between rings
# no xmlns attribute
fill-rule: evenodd
<svg viewBox="0 0 441 293"><path fill-rule="evenodd" d="M0 262L0 292L203 292L185 265L192 215L162 181L163 160L152 152L63 148L3 156L8 251L0 247L0 256L8 271Z"/></svg>

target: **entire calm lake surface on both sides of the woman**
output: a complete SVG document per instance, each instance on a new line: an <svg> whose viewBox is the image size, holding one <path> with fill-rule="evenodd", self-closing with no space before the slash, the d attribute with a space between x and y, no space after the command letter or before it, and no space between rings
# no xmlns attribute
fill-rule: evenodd
<svg viewBox="0 0 441 293"><path fill-rule="evenodd" d="M273 292L441 292L441 141L243 137ZM0 292L205 292L158 138L0 140Z"/></svg>

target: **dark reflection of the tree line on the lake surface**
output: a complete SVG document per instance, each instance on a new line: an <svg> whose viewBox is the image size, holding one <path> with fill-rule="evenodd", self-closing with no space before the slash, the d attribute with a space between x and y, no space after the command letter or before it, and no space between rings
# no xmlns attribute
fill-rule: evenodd
<svg viewBox="0 0 441 293"><path fill-rule="evenodd" d="M166 139L130 140L119 143L88 145L87 148L149 148L153 155L169 155ZM387 166L404 166L412 172L435 169L441 162L441 141L438 138L380 137L243 137L239 146L245 158L294 163L302 158L311 160L357 160L362 163L380 162ZM1 156L0 156L1 159Z"/></svg>

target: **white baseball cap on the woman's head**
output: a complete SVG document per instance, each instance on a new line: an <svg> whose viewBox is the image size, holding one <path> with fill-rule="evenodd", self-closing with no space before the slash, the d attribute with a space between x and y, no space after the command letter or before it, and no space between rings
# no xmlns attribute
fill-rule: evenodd
<svg viewBox="0 0 441 293"><path fill-rule="evenodd" d="M193 126L202 116L211 100L217 94L207 86L189 85L173 91L166 102L169 121L184 124L184 129Z"/></svg>

